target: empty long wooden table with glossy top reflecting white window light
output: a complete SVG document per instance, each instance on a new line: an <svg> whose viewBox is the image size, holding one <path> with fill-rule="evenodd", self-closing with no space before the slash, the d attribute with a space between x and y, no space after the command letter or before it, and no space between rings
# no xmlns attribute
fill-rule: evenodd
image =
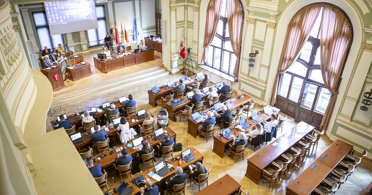
<svg viewBox="0 0 372 195"><path fill-rule="evenodd" d="M286 134L283 134L270 144L262 148L256 154L247 159L247 178L258 184L261 179L262 169L277 159L281 154L294 146L309 134L314 127L301 121L291 128ZM296 132L294 134L294 132ZM299 133L301 132L301 133Z"/></svg>

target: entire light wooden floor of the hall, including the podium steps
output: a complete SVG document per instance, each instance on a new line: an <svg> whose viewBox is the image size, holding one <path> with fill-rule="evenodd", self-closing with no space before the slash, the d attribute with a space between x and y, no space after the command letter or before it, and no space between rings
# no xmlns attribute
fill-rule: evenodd
<svg viewBox="0 0 372 195"><path fill-rule="evenodd" d="M96 52L84 54L84 60L88 62L93 61L92 56L95 54ZM54 120L55 116L60 115L60 107L62 110L65 108L66 114L70 115L74 114L76 109L84 109L88 106L100 105L103 102L109 100L112 101L117 97L123 95L128 96L129 94L132 94L136 100L137 109L145 108L154 115L156 120L157 111L161 109L161 104L159 104L159 106L156 108L150 106L148 104L147 90L155 84L165 84L170 79L168 71L166 71L162 66L161 54L158 54L157 52L155 52L155 54L155 61L122 68L109 72L108 74L100 73L94 68L94 65L92 65L92 73L94 73L92 76L76 82L67 81L67 87L55 92L54 94L54 99L51 106L53 116L47 117L47 131L52 130L49 121ZM151 68L154 68L154 71L151 70ZM143 76L144 73L146 73L145 76ZM173 80L179 79L181 76L181 74L174 75ZM115 84L112 79L116 79L115 82L117 84ZM121 80L125 80L125 82L121 82ZM93 87L91 86L92 84ZM102 86L108 87L106 87L107 89L105 89L104 92L100 93L97 90L94 92L94 86L96 86L96 88L100 88ZM234 95L236 96L236 93ZM284 117L285 115L280 114L279 116ZM212 152L212 138L210 138L208 143L206 143L205 139L201 139L200 137L193 138L187 134L187 120L182 119L182 121L178 122L172 122L169 120L169 122L169 127L177 133L177 143L184 143L184 148L193 146L204 154L203 164L207 169L211 168L211 173L209 174L209 183L214 182L225 174L229 174L235 180L241 183L244 191L250 191L252 195L284 195L286 186L331 144L331 142L328 141L325 136L323 136L318 144L318 147L313 153L310 153L310 156L305 159L304 163L300 163L298 167L291 169L289 174L282 176L282 180L278 181L276 184L273 184L272 189L269 189L269 183L266 182L266 180L262 179L259 185L256 185L254 182L244 176L247 167L247 158L255 154L250 146L246 147L244 152L244 160L240 159L237 163L235 163L235 159L232 157L225 156L222 159L221 157L217 156L217 154ZM288 118L283 127L283 133L294 125L294 119ZM215 130L219 130L219 127L217 127ZM278 136L281 135L280 132L278 132L278 134ZM264 146L261 146L261 148L263 147ZM256 152L257 151L259 150L256 150ZM141 169L143 169L142 166ZM118 176L118 173L114 168L110 168L106 171L108 172L108 178L114 177L117 183L120 182L120 176ZM367 159L363 159L362 163L357 166L355 172L348 178L348 180L341 185L341 188L337 190L336 194L359 195L366 188L366 186L368 186L371 180L372 163ZM108 186L111 186L111 184L112 180L109 179ZM195 194L197 191L197 186L189 185L189 182L187 183L187 195Z"/></svg>

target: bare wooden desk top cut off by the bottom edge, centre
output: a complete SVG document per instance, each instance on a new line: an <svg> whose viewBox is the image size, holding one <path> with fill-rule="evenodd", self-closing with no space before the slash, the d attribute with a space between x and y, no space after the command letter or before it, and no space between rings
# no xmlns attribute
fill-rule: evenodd
<svg viewBox="0 0 372 195"><path fill-rule="evenodd" d="M226 174L222 178L217 179L215 182L197 192L195 195L231 195L238 191L240 186L240 183L235 181L235 179L233 179L229 174Z"/></svg>

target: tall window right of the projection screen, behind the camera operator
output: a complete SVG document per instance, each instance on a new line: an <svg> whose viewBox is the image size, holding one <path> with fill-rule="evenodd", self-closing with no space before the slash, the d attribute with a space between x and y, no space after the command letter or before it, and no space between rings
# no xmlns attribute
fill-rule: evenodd
<svg viewBox="0 0 372 195"><path fill-rule="evenodd" d="M88 39L89 39L90 47L94 47L97 45L103 45L104 44L103 41L98 41L98 40L105 38L105 36L107 35L106 15L105 15L104 5L96 6L96 16L97 16L98 28L88 30Z"/></svg>

